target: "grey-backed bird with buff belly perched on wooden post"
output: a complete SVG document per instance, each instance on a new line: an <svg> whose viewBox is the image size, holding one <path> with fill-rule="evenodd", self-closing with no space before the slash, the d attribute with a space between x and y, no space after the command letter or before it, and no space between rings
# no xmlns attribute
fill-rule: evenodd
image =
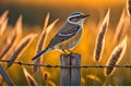
<svg viewBox="0 0 131 87"><path fill-rule="evenodd" d="M90 15L81 12L70 14L64 25L50 40L46 49L37 53L32 61L50 50L58 49L63 52L66 52L66 50L71 51L71 49L73 49L81 41L83 34L83 22L87 16Z"/></svg>

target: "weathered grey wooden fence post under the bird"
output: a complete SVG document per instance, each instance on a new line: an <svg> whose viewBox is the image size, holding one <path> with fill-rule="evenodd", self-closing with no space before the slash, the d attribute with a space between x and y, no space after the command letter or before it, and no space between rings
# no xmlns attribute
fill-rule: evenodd
<svg viewBox="0 0 131 87"><path fill-rule="evenodd" d="M81 55L78 53L61 54L60 62L62 66L80 66ZM81 67L61 67L61 86L80 86Z"/></svg>

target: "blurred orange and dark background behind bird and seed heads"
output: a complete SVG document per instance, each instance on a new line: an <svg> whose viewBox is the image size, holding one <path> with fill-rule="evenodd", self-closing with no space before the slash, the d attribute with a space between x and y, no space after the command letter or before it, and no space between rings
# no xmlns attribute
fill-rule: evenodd
<svg viewBox="0 0 131 87"><path fill-rule="evenodd" d="M110 22L106 35L106 45L103 54L103 60L99 64L105 65L109 54L111 53L114 47L111 46L114 34L116 32L117 24L120 20L123 7L126 7L127 0L0 0L0 15L9 10L9 26L15 25L16 20L20 15L23 17L23 36L29 33L37 33L38 37L43 30L44 20L47 13L50 13L49 24L59 18L55 28L50 32L49 39L53 33L58 32L60 27L64 24L67 17L72 12L83 12L90 14L84 22L84 34L80 45L73 49L73 51L82 54L82 65L95 65L93 60L93 52L95 47L95 39L98 32L98 26L104 20L104 16L108 9L110 9ZM129 27L128 27L129 28ZM35 55L35 49L37 45L36 40L24 51L20 57L19 61L24 61L32 63L32 58ZM128 41L128 47L131 46ZM50 51L44 55L43 64L60 64L59 55L60 51ZM129 49L120 64L129 64ZM28 72L37 80L37 76L32 72L32 67L26 66ZM13 71L12 71L13 70ZM55 83L55 85L60 85L60 69L46 69L43 67L43 73L48 73L49 80ZM92 79L96 69L82 69L82 85L93 85ZM7 70L11 79L15 85L27 85L26 79L23 75L21 66L13 65ZM131 85L131 70L129 69L118 69L111 76L110 85ZM43 76L41 76L43 77ZM106 77L104 75L104 69L98 69L97 77L100 79L96 82L97 85L103 85ZM25 80L25 82L24 82ZM38 80L37 80L38 82ZM45 85L45 83L43 83ZM48 84L47 84L48 85Z"/></svg>

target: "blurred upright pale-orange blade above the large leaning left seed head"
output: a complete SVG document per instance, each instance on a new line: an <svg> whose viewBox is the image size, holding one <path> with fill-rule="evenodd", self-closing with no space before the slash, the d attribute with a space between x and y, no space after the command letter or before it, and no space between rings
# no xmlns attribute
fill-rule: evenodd
<svg viewBox="0 0 131 87"><path fill-rule="evenodd" d="M17 38L20 38L22 36L22 15L17 18L14 28L16 30Z"/></svg>

